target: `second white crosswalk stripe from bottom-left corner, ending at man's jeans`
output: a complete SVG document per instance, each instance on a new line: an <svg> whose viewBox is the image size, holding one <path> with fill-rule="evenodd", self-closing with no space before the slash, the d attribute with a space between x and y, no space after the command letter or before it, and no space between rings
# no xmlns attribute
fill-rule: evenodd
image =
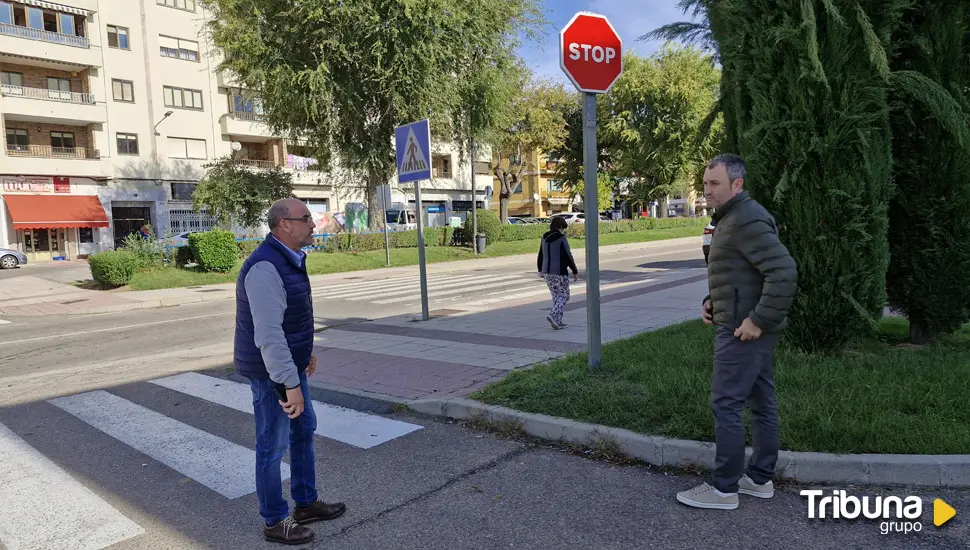
<svg viewBox="0 0 970 550"><path fill-rule="evenodd" d="M256 491L251 449L103 390L49 403L226 498ZM281 464L280 470L282 479L289 479L289 465Z"/></svg>

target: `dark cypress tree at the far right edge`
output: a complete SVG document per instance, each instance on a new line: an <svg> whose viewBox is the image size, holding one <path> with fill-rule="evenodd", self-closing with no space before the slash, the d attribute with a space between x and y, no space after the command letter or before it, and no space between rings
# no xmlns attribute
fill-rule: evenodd
<svg viewBox="0 0 970 550"><path fill-rule="evenodd" d="M915 3L893 41L893 69L905 82L912 71L942 88L899 86L892 97L887 291L909 318L910 340L923 343L970 319L970 6Z"/></svg>

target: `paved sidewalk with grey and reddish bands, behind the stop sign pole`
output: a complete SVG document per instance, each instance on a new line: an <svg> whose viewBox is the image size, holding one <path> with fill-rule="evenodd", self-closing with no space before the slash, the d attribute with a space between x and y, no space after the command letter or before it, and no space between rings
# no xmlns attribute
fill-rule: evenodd
<svg viewBox="0 0 970 550"><path fill-rule="evenodd" d="M640 284L604 292L602 342L697 318L706 293L703 269L650 274ZM441 310L428 321L402 315L324 330L316 338L319 366L311 384L399 402L467 395L511 370L585 349L584 299L567 305L569 326L563 330L545 320L549 302Z"/></svg>

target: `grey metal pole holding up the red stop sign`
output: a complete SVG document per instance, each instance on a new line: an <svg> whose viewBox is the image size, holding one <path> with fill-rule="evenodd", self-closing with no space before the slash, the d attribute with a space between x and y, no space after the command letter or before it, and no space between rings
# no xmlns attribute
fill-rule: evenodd
<svg viewBox="0 0 970 550"><path fill-rule="evenodd" d="M583 93L583 185L586 212L586 338L589 368L600 366L599 207L596 204L596 94Z"/></svg>

